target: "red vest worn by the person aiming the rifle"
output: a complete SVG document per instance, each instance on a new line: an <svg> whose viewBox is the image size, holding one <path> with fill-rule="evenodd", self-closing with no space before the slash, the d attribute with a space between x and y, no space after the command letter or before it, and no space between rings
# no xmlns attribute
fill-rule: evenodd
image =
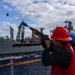
<svg viewBox="0 0 75 75"><path fill-rule="evenodd" d="M51 75L75 75L75 54L72 46L68 43L65 47L71 53L71 61L69 67L64 70L58 65L52 65Z"/></svg>

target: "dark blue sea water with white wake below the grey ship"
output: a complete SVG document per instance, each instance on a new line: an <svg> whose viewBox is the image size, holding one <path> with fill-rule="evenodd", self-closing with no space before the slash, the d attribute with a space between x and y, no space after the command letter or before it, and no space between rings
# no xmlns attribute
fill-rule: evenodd
<svg viewBox="0 0 75 75"><path fill-rule="evenodd" d="M51 67L44 67L41 62L41 55L14 56L13 62L21 62L21 65L14 65L14 75L50 75ZM28 61L28 62L27 62ZM0 59L0 65L10 62L10 57ZM22 63L23 62L23 63ZM10 66L0 68L0 75L11 75Z"/></svg>

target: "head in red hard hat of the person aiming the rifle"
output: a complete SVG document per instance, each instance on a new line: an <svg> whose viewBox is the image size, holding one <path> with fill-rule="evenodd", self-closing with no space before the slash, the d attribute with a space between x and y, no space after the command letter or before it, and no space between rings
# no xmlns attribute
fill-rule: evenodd
<svg viewBox="0 0 75 75"><path fill-rule="evenodd" d="M72 40L69 36L68 30L62 26L58 26L54 29L51 39L55 40L59 45L65 45Z"/></svg>

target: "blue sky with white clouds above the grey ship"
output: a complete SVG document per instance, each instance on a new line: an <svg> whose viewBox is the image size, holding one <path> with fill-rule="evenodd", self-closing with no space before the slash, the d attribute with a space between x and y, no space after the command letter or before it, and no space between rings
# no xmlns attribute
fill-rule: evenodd
<svg viewBox="0 0 75 75"><path fill-rule="evenodd" d="M44 34L50 35L56 26L65 26L66 19L75 28L75 0L0 0L0 37L10 37L11 26L16 38L22 21L38 30L45 28ZM25 37L31 33L25 27Z"/></svg>

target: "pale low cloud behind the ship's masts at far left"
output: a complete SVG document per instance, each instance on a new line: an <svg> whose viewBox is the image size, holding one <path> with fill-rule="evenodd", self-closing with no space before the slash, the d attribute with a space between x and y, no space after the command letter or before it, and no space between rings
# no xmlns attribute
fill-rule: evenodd
<svg viewBox="0 0 75 75"><path fill-rule="evenodd" d="M11 24L10 22L0 22L0 25L2 25L0 27L0 36L7 36L9 35L10 37L10 26L13 28L14 30L14 38L16 38L17 33L18 33L18 27L15 24ZM36 27L35 25L32 25L33 27ZM27 34L28 33L28 34ZM25 37L28 37L32 34L32 31L28 28L25 28Z"/></svg>

